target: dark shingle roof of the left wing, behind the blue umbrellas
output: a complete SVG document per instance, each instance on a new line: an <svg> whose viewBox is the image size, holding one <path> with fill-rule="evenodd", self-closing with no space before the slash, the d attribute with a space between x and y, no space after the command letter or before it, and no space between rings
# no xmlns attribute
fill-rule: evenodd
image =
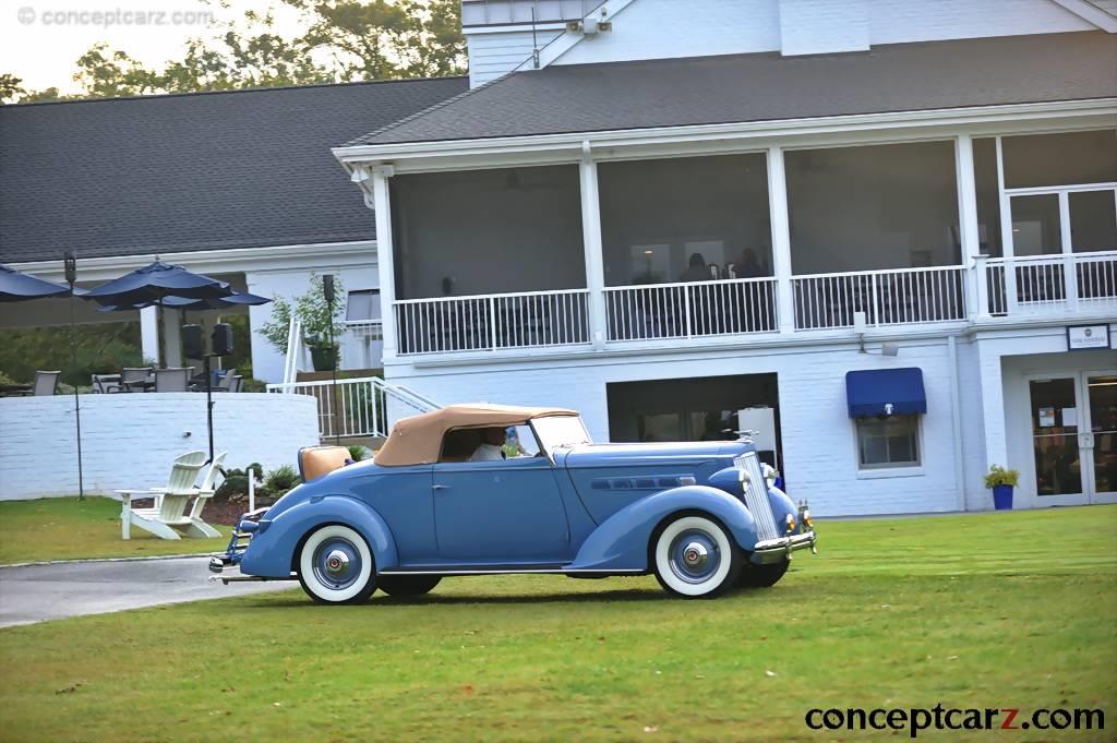
<svg viewBox="0 0 1117 743"><path fill-rule="evenodd" d="M330 149L462 77L0 106L0 263L371 239Z"/></svg>

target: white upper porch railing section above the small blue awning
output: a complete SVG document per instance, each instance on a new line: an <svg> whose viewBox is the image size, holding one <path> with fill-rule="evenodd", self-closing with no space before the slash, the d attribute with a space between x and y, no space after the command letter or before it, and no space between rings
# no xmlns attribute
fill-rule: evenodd
<svg viewBox="0 0 1117 743"><path fill-rule="evenodd" d="M792 276L795 328L852 327L858 312L869 325L965 320L964 272L942 266Z"/></svg>

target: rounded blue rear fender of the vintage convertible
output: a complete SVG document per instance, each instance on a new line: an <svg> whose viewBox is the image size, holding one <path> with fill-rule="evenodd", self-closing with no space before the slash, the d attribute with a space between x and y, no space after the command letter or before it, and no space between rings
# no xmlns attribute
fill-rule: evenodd
<svg viewBox="0 0 1117 743"><path fill-rule="evenodd" d="M240 572L289 578L298 543L314 527L324 524L344 524L360 532L372 550L378 571L399 565L392 532L372 506L346 495L326 495L287 508L266 531L254 534L240 561Z"/></svg>

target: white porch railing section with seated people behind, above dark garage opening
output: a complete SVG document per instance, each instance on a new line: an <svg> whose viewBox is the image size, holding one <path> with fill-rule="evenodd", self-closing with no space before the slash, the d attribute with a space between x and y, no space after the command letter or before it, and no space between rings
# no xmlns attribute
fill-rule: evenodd
<svg viewBox="0 0 1117 743"><path fill-rule="evenodd" d="M610 341L686 339L779 330L774 278L607 286Z"/></svg>

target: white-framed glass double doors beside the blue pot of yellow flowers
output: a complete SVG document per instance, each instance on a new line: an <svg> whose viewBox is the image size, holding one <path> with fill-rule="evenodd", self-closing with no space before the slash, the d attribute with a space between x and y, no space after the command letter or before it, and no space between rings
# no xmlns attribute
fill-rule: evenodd
<svg viewBox="0 0 1117 743"><path fill-rule="evenodd" d="M1038 505L1117 502L1117 371L1029 380Z"/></svg>

